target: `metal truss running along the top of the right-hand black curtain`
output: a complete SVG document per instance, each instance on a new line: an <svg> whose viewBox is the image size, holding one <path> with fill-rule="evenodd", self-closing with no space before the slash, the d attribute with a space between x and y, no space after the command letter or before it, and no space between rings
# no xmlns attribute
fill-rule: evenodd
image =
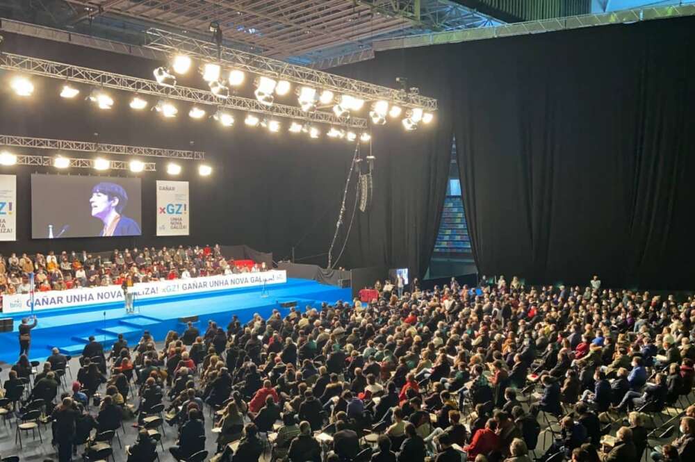
<svg viewBox="0 0 695 462"><path fill-rule="evenodd" d="M425 45L434 44L469 42L489 38L512 37L514 35L564 31L584 27L607 26L610 24L632 24L653 19L669 19L682 16L695 16L695 5L683 4L656 6L653 8L637 8L635 10L614 11L612 13L595 13L591 15L518 22L516 24L503 24L502 26L475 28L466 31L413 35L404 38L377 40L373 43L373 46L375 50L383 51L389 49L423 47Z"/></svg>

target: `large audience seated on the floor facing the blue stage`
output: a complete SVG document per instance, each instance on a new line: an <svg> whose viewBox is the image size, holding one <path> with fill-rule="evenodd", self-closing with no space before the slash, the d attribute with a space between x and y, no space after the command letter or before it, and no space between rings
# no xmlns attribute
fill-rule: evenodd
<svg viewBox="0 0 695 462"><path fill-rule="evenodd" d="M213 462L258 462L268 446L288 462L695 460L695 299L598 278L586 288L513 281L452 280L401 297L375 284L367 303L234 317L226 329L189 323L160 343L119 338L108 354L92 338L73 393L58 396L57 350L28 398L16 390L31 374L26 356L4 393L18 415L44 399L61 462L85 442L94 459L90 432L124 419L139 432L128 460L151 462L160 413L178 431L168 449L179 461L204 450L206 427ZM667 406L679 434L648 449L646 420Z"/></svg>

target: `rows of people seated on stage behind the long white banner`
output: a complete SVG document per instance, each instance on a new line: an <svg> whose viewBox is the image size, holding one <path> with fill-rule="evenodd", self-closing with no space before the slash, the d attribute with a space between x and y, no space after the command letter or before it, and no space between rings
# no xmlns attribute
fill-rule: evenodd
<svg viewBox="0 0 695 462"><path fill-rule="evenodd" d="M0 254L0 297L31 290L33 274L34 290L67 290L95 286L132 286L133 283L162 279L188 279L215 274L265 271L265 263L252 267L237 266L234 260L222 255L220 245L210 247L154 247L133 248L102 258L101 254L87 251L63 251L56 255L27 254L8 258Z"/></svg>

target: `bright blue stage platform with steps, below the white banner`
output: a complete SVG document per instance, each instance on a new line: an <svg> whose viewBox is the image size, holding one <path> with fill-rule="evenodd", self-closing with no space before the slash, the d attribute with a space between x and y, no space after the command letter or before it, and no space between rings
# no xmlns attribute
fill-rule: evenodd
<svg viewBox="0 0 695 462"><path fill-rule="evenodd" d="M320 308L322 302L334 303L350 300L349 288L341 289L306 279L287 279L283 284L268 285L262 288L241 288L204 292L178 297L147 299L138 302L136 313L127 314L122 302L82 306L80 308L60 308L38 312L38 326L31 331L31 360L44 361L51 348L58 347L63 354L81 354L89 336L97 337L108 348L122 333L129 345L136 343L142 331L148 330L155 340L164 340L170 330L181 333L185 326L179 318L197 315L198 329L204 333L208 320L218 322L227 328L232 315L241 322L247 322L254 313L267 317L273 309L285 315L290 308L280 304L297 302L297 308L304 311L306 306ZM13 317L13 332L0 333L0 361L13 364L17 361L19 341L17 326L26 313L7 315Z"/></svg>

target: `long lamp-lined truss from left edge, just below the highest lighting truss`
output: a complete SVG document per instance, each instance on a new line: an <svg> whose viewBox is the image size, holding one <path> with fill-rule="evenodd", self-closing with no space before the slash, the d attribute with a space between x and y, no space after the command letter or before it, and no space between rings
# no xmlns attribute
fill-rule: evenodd
<svg viewBox="0 0 695 462"><path fill-rule="evenodd" d="M284 104L273 104L265 106L256 99L229 95L229 98L222 99L215 97L211 92L176 86L174 88L163 87L147 79L114 74L88 67L74 66L55 61L31 58L28 56L16 55L13 53L0 54L0 68L26 74L50 77L51 79L69 80L75 83L85 83L102 88L112 88L114 90L124 90L137 92L139 94L149 94L165 99L177 99L188 101L195 104L204 104L220 108L243 110L252 113L274 115L277 117L290 117L292 119L304 120L308 122L318 122L321 124L332 124L336 126L347 126L354 129L367 129L367 120L360 117L336 117L333 113L316 111L314 113L304 112L295 106ZM307 69L310 70L311 69Z"/></svg>

